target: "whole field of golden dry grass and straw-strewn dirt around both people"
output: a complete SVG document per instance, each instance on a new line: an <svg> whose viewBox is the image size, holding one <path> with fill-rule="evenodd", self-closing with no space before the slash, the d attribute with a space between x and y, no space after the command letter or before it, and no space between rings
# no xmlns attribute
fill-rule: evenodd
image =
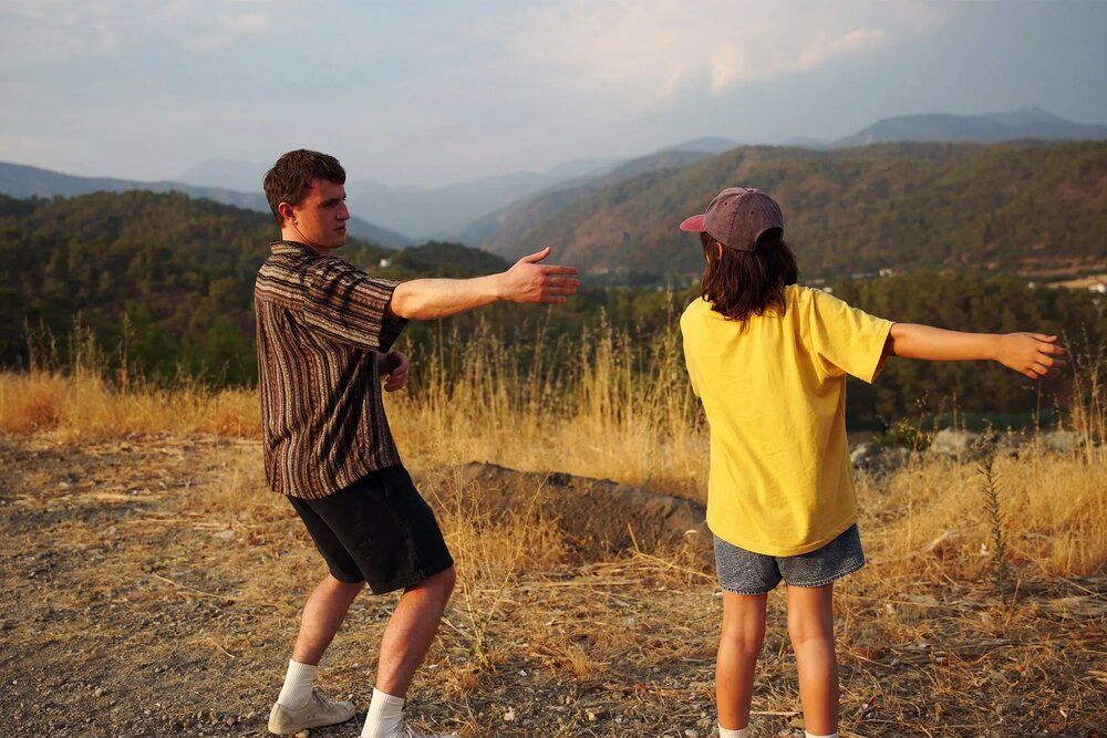
<svg viewBox="0 0 1107 738"><path fill-rule="evenodd" d="M601 550L531 503L557 493L545 484L496 517L455 466L701 499L706 428L675 343L642 371L601 336L559 384L506 351L477 346L389 397L461 574L415 715L466 737L711 735L721 606L703 547ZM1069 424L1101 441L1092 368ZM265 735L322 568L265 488L258 415L248 389L0 375L0 576L18 603L0 622L6 735ZM997 508L966 459L920 453L859 476L869 565L837 590L842 735L1101 735L1107 448L1049 453L1031 434L993 471ZM391 602L360 600L323 664L361 709ZM757 736L801 726L782 593L769 609Z"/></svg>

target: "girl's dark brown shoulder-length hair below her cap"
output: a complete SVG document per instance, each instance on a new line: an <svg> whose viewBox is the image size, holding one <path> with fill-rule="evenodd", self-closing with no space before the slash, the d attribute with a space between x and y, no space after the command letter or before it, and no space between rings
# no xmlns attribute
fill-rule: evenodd
<svg viewBox="0 0 1107 738"><path fill-rule="evenodd" d="M711 233L700 233L703 273L700 297L727 320L744 321L768 310L784 314L784 288L799 278L796 257L778 228L765 231L753 251L728 249Z"/></svg>

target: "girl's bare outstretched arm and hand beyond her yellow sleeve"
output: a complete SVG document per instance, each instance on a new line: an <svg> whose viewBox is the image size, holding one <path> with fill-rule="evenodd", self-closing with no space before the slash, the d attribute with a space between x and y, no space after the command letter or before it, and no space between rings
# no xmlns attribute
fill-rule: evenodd
<svg viewBox="0 0 1107 738"><path fill-rule="evenodd" d="M1043 333L962 333L930 325L896 323L884 353L932 362L997 361L1032 380L1056 376L1068 351Z"/></svg>

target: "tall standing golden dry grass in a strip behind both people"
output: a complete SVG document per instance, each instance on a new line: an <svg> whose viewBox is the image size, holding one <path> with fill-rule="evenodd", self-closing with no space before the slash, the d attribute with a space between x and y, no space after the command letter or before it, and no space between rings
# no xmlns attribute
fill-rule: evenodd
<svg viewBox="0 0 1107 738"><path fill-rule="evenodd" d="M386 396L410 466L490 461L702 500L707 429L687 386L675 334L659 336L642 356L627 335L600 330L581 342L578 361L556 375L540 352L528 370L520 370L523 362L511 349L488 333L464 345L456 355L425 357L427 378ZM1100 356L1076 362L1070 413L1074 430L1100 445L1052 454L1032 439L1017 458L997 459L1011 555L1044 573L1086 574L1107 561L1107 388L1101 365ZM70 376L0 374L0 433L6 434L33 433L66 443L158 434L256 439L259 415L256 393L249 389L210 391L196 383L165 389L133 380L110 382L102 372L80 366ZM869 527L870 536L888 541L889 562L908 568L912 552L939 537L945 537L945 547L953 541L961 548L986 547L980 482L974 465L917 455L880 481L881 493L867 506L867 514L879 521ZM963 573L975 572L970 567Z"/></svg>

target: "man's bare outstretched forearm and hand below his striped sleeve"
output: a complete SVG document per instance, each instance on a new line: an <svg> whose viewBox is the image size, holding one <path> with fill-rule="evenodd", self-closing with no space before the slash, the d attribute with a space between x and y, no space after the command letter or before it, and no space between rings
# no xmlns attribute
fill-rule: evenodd
<svg viewBox="0 0 1107 738"><path fill-rule="evenodd" d="M523 257L499 274L474 279L415 279L403 282L392 293L389 312L411 320L434 320L456 315L482 305L508 302L565 302L577 291L580 280L572 267L539 263L549 247Z"/></svg>

